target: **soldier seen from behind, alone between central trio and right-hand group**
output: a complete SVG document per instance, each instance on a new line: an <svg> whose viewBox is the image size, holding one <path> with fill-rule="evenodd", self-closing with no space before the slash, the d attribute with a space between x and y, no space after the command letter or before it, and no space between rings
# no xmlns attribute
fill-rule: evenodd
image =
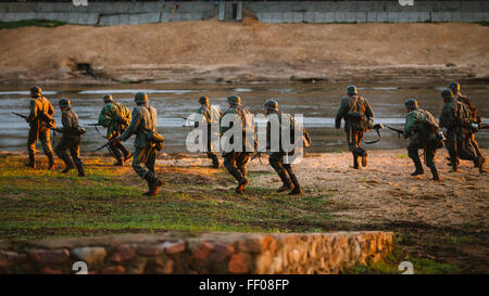
<svg viewBox="0 0 489 296"><path fill-rule="evenodd" d="M374 111L368 101L358 95L356 87L349 86L347 95L336 114L335 126L341 127L341 119L344 119L344 131L347 132L348 147L353 154L353 168L360 169L359 159L362 157L362 166L367 165L367 152L362 147L363 133L366 130L364 123L373 123ZM364 123L362 123L364 121Z"/></svg>

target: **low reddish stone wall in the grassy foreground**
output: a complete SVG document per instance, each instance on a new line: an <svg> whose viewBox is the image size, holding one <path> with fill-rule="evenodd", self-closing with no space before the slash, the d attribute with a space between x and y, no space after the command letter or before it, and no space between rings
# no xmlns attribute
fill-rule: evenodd
<svg viewBox="0 0 489 296"><path fill-rule="evenodd" d="M392 241L380 231L49 240L0 245L0 273L76 273L78 261L88 273L338 273L384 258Z"/></svg>

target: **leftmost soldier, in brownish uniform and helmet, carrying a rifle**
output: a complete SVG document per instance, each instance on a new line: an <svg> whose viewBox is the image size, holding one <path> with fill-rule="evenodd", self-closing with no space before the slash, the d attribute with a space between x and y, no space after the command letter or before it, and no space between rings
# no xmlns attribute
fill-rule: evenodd
<svg viewBox="0 0 489 296"><path fill-rule="evenodd" d="M36 168L36 143L41 141L42 151L49 160L49 169L54 168L54 157L52 153L50 129L54 128L54 108L48 99L41 95L39 87L30 88L30 113L26 117L29 124L29 136L27 140L27 152L29 154L29 162L25 164L27 167Z"/></svg>

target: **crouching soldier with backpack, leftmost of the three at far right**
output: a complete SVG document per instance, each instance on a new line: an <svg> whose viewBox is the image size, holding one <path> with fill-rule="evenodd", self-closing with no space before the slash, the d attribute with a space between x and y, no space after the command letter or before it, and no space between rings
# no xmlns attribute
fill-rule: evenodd
<svg viewBox="0 0 489 296"><path fill-rule="evenodd" d="M434 142L439 132L439 126L435 117L425 110L417 106L414 99L409 99L404 102L408 115L405 116L404 139L410 138L408 145L408 156L413 159L416 170L411 176L423 175L423 165L419 160L418 150L423 149L425 152L426 165L431 169L432 180L441 181L438 176L437 167L435 166L435 153L437 147Z"/></svg>

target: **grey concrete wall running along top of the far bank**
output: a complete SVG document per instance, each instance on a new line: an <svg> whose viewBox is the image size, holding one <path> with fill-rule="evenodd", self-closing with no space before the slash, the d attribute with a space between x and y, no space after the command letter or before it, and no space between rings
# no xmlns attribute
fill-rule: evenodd
<svg viewBox="0 0 489 296"><path fill-rule="evenodd" d="M87 7L50 2L0 3L0 21L46 18L101 26L210 18L229 21L224 15L229 5L200 1L89 1ZM401 7L398 1L243 1L243 7L264 23L489 22L489 1L415 1L413 7ZM241 5L238 5L238 21L241 20L240 12Z"/></svg>

